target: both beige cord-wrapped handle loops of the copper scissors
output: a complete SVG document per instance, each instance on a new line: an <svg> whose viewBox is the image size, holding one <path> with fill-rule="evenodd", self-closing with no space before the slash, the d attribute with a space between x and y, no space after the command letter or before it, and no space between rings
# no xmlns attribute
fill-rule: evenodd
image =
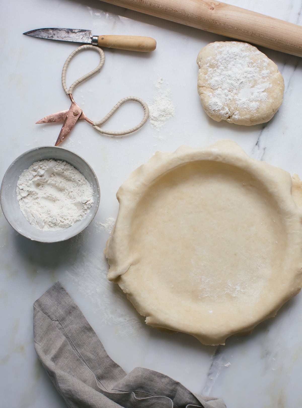
<svg viewBox="0 0 302 408"><path fill-rule="evenodd" d="M95 51L98 51L98 53L100 54L100 63L98 64L97 67L95 67L95 69L93 69L92 71L90 71L89 73L87 73L86 75L83 75L81 78L79 78L78 80L76 80L75 82L73 82L71 84L71 86L69 87L69 89L66 86L66 72L67 72L67 67L69 65L69 62L72 60L72 58L74 57L74 55L76 55L76 53L78 51L82 51L84 49L93 49ZM78 47L77 49L75 49L67 58L67 60L64 63L63 69L62 69L62 87L64 89L64 92L66 93L66 95L72 95L73 90L76 88L76 86L78 84L80 84L81 82L83 82L84 80L87 80L88 78L90 78L92 75L94 75L95 73L97 73L98 71L100 71L100 69L103 67L105 62L105 55L104 55L104 51L100 48L100 47L96 47L94 45L81 45L80 47ZM107 131L104 129L101 129L99 127L99 125L104 124L105 122L107 122L107 120L109 118L111 118L111 116L113 115L113 113L115 113L118 108L120 106L122 106L122 104L124 104L125 102L129 102L129 101L135 101L138 102L142 105L143 109L144 109L144 117L142 118L142 120L140 121L140 123L136 126L134 126L131 129L127 129L127 130L123 130L123 131L118 131L118 132L114 132L114 131ZM99 120L98 122L92 122L91 120L89 120L88 118L86 118L86 120L89 123L92 123L93 127L98 130L100 133L105 134L105 135L109 135L109 136L124 136L124 135L129 135L129 133L133 133L135 131L137 131L138 129L140 129L147 121L147 119L149 118L149 108L146 102L144 102L141 98L138 98L136 96L128 96L127 98L122 98L120 101L118 101L117 104L115 104L113 106L113 108L111 109L111 111L109 111L107 113L106 116L104 116L103 119Z"/></svg>

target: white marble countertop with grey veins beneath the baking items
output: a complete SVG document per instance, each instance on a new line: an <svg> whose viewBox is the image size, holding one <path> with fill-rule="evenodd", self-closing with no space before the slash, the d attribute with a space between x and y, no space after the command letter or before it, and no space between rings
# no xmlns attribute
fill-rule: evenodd
<svg viewBox="0 0 302 408"><path fill-rule="evenodd" d="M301 0L229 3L302 24ZM135 366L158 370L193 392L222 397L228 408L301 408L301 294L277 317L260 324L247 337L228 339L226 346L202 346L184 334L168 336L147 327L118 287L107 281L103 249L109 233L102 223L116 217L115 193L129 173L155 151L174 151L181 144L206 146L229 138L252 157L302 175L302 59L261 49L284 76L284 102L269 123L236 126L208 118L196 91L198 51L209 42L225 40L223 37L98 0L16 0L2 2L1 10L1 178L18 155L55 142L61 124L35 122L69 108L60 75L77 44L29 38L22 35L24 31L71 27L92 29L93 34L155 38L158 47L150 54L104 49L104 68L76 89L75 100L88 117L98 120L124 96L137 95L152 103L155 83L163 78L160 89L171 90L175 116L160 131L148 123L118 140L100 135L84 121L75 126L62 147L91 164L101 189L98 214L79 236L60 244L31 242L13 231L0 214L0 405L65 406L38 361L32 333L33 302L60 280L108 354L127 372ZM78 78L97 61L96 53L82 53L72 62L67 81ZM129 103L109 121L107 129L133 126L141 113L140 106Z"/></svg>

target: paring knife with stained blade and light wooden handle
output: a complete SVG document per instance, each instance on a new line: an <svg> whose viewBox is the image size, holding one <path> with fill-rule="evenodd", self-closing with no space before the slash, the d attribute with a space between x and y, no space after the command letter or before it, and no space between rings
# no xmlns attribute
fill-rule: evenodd
<svg viewBox="0 0 302 408"><path fill-rule="evenodd" d="M23 33L30 37L46 38L47 40L83 42L99 47L118 48L129 51L154 51L156 41L151 37L128 35L91 35L90 30L71 28L40 28Z"/></svg>

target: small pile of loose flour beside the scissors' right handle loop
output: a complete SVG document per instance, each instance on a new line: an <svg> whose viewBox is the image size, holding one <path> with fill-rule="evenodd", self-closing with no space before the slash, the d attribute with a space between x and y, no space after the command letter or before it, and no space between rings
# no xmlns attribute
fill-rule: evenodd
<svg viewBox="0 0 302 408"><path fill-rule="evenodd" d="M175 115L175 106L170 99L171 89L164 84L164 79L158 77L154 85L156 92L153 101L148 103L149 120L151 126L159 131L165 122Z"/></svg>

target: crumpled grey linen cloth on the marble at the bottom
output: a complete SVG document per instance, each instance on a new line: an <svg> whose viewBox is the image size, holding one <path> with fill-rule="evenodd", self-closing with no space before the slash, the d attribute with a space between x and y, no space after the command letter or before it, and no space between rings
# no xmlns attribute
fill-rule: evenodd
<svg viewBox="0 0 302 408"><path fill-rule="evenodd" d="M72 408L226 408L221 399L193 394L178 381L147 368L126 374L106 353L60 282L33 305L36 352L58 392Z"/></svg>

